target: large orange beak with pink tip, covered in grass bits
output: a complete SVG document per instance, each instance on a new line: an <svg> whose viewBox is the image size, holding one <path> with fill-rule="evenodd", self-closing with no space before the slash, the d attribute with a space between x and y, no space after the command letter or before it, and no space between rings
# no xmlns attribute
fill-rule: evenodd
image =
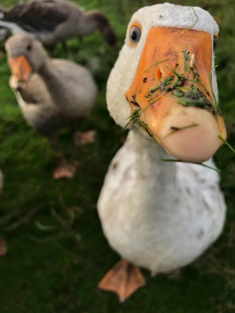
<svg viewBox="0 0 235 313"><path fill-rule="evenodd" d="M155 27L125 93L132 122L182 161L202 162L226 138L211 87L210 34Z"/></svg>

